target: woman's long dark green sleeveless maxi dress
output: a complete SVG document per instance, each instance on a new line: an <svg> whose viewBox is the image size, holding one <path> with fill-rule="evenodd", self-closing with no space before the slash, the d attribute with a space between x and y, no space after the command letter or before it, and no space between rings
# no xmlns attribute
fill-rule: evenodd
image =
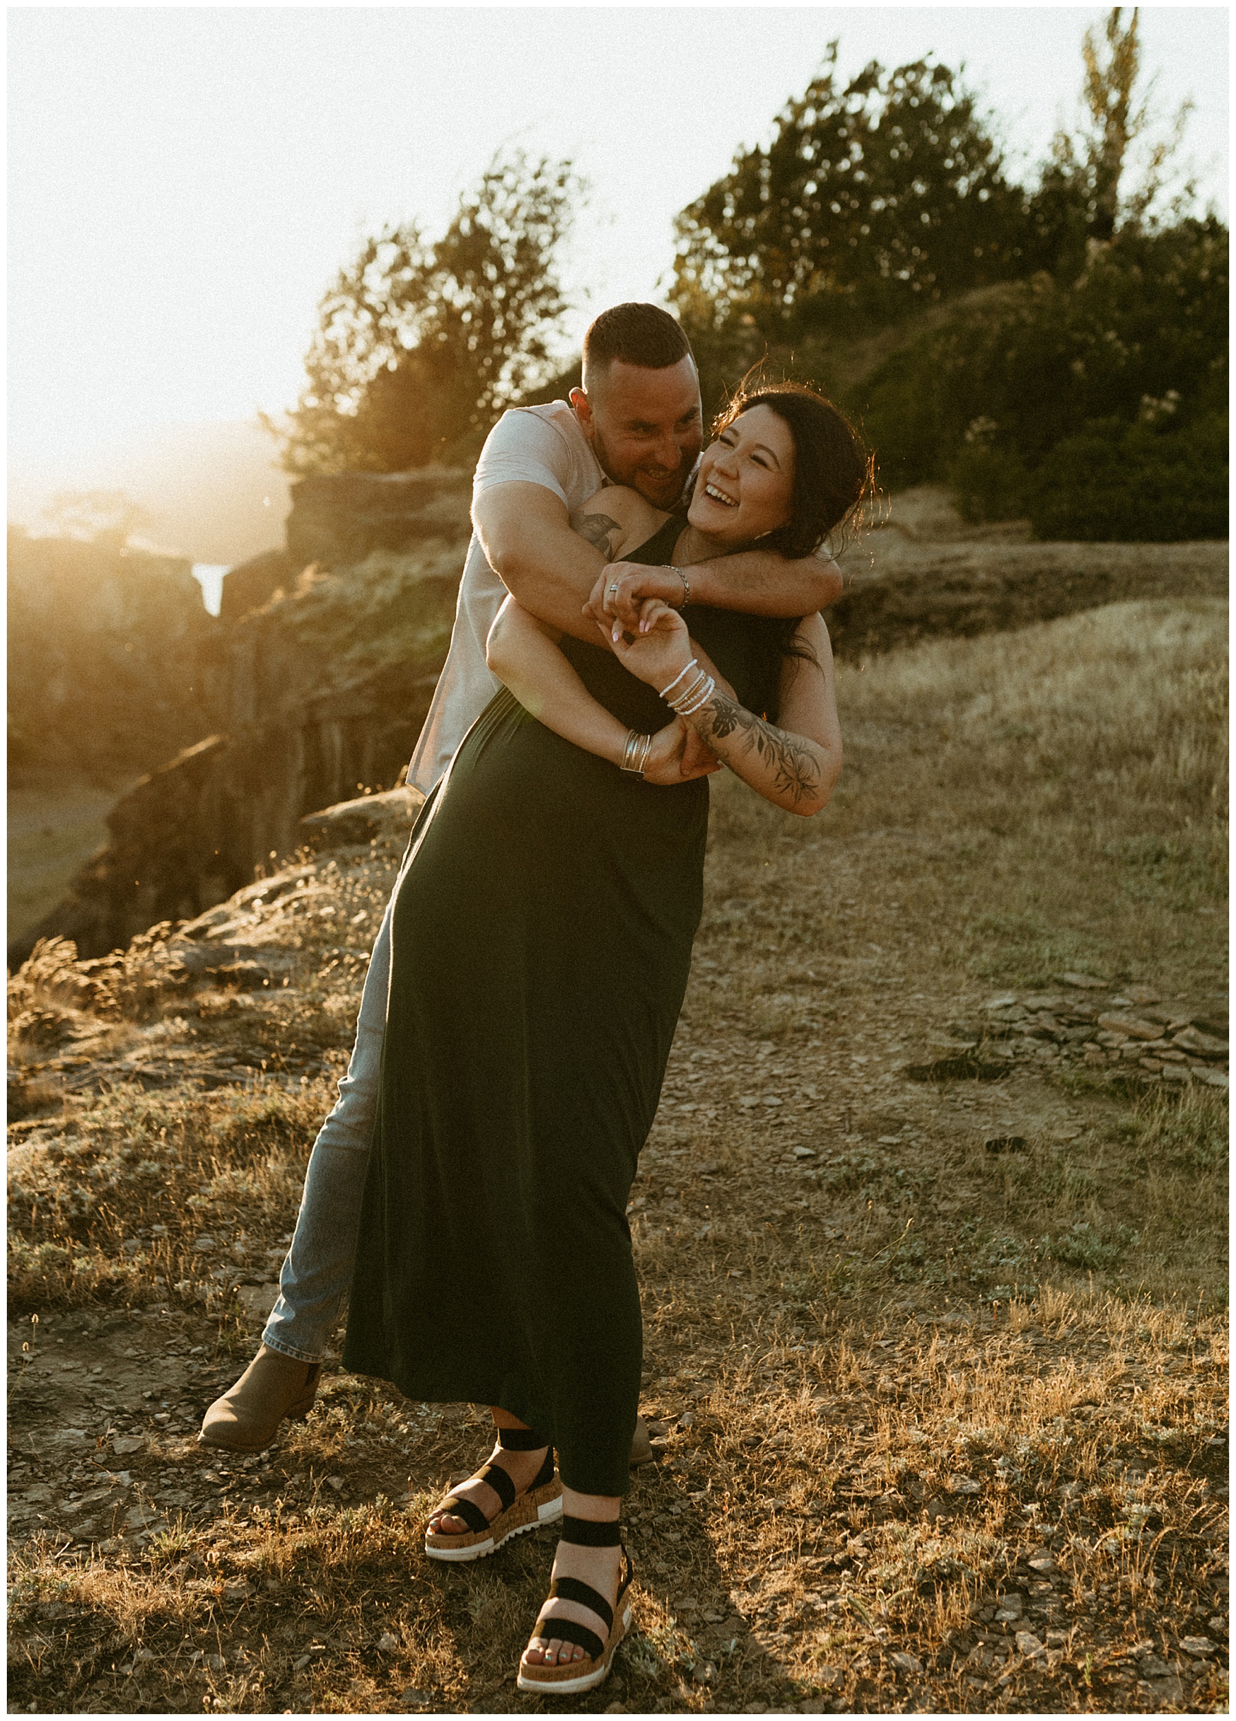
<svg viewBox="0 0 1236 1721"><path fill-rule="evenodd" d="M630 561L668 563L671 518ZM692 608L756 711L778 625ZM565 638L621 723L670 721L611 652ZM642 1330L627 1198L701 916L708 780L656 786L504 688L413 833L344 1366L411 1399L499 1404L563 1482L621 1494Z"/></svg>

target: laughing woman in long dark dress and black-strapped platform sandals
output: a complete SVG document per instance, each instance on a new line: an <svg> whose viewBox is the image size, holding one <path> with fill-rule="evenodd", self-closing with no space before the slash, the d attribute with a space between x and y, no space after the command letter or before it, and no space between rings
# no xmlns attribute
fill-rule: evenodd
<svg viewBox="0 0 1236 1721"><path fill-rule="evenodd" d="M783 384L732 403L685 521L621 487L604 513L620 556L680 570L687 606L694 563L757 539L806 554L868 478L840 413ZM699 644L649 602L606 651L508 599L489 638L506 688L454 756L394 907L344 1365L411 1399L491 1404L492 1459L432 1514L425 1549L475 1559L561 1516L518 1675L558 1695L606 1676L630 1621L618 1508L640 1311L625 1208L708 830L708 788L678 769L683 725L792 812L826 804L842 759L819 616L687 614Z"/></svg>

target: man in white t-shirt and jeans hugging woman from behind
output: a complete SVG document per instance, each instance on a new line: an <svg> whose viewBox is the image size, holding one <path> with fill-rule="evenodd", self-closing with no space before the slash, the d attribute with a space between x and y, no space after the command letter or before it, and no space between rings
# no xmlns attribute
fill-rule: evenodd
<svg viewBox="0 0 1236 1721"><path fill-rule="evenodd" d="M689 594L692 604L802 616L838 595L837 566L818 556L787 561L771 551L747 551L695 563L690 585L675 568L609 564L615 521L601 503L589 509L582 504L613 482L670 509L701 447L695 361L678 324L654 305L618 305L597 317L584 337L584 387L572 391L570 404L553 401L503 415L477 465L475 530L451 649L408 766L410 783L432 799L465 733L497 690L485 668L485 637L508 590L542 621L590 642L597 640L597 620L630 623L644 597L680 606ZM714 768L713 756L689 731L683 780ZM205 1415L200 1439L207 1446L258 1451L284 1416L303 1416L317 1394L322 1356L351 1282L389 971L387 904L348 1074L310 1155L279 1298L258 1354ZM632 1456L651 1456L642 1423Z"/></svg>

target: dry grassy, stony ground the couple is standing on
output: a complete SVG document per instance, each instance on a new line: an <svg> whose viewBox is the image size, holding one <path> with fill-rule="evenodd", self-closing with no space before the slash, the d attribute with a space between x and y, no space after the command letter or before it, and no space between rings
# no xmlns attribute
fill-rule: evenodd
<svg viewBox="0 0 1236 1721"><path fill-rule="evenodd" d="M714 785L632 1200L661 1458L582 1707L1226 1709L1224 645L1207 599L926 642L842 666L821 817ZM553 1542L420 1552L477 1411L336 1366L270 1453L195 1444L396 862L258 881L198 981L15 981L14 1706L535 1707Z"/></svg>

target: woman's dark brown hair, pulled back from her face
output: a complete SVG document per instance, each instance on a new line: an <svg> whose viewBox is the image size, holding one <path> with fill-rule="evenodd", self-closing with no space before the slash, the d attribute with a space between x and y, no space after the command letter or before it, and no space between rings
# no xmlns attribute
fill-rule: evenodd
<svg viewBox="0 0 1236 1721"><path fill-rule="evenodd" d="M819 549L830 532L857 515L874 487L874 461L845 413L802 382L749 384L744 379L718 415L713 435L752 406L768 406L794 437L790 518L759 542L795 561Z"/></svg>

